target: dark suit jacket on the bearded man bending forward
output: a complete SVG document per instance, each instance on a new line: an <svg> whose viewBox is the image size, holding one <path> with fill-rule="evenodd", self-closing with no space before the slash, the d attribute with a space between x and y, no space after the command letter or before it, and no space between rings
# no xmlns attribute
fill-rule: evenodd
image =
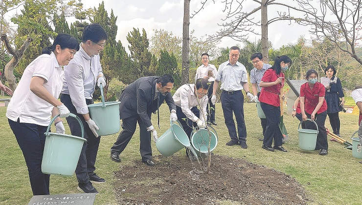
<svg viewBox="0 0 362 205"><path fill-rule="evenodd" d="M121 102L119 104L120 119L139 115L146 127L152 125L149 116L158 108L157 105L152 106L156 94L157 79L158 76L142 77L127 85L119 99ZM172 109L176 110L176 104L171 93L167 93L166 96L160 94L159 105L161 105L163 101L166 101L170 112Z"/></svg>

